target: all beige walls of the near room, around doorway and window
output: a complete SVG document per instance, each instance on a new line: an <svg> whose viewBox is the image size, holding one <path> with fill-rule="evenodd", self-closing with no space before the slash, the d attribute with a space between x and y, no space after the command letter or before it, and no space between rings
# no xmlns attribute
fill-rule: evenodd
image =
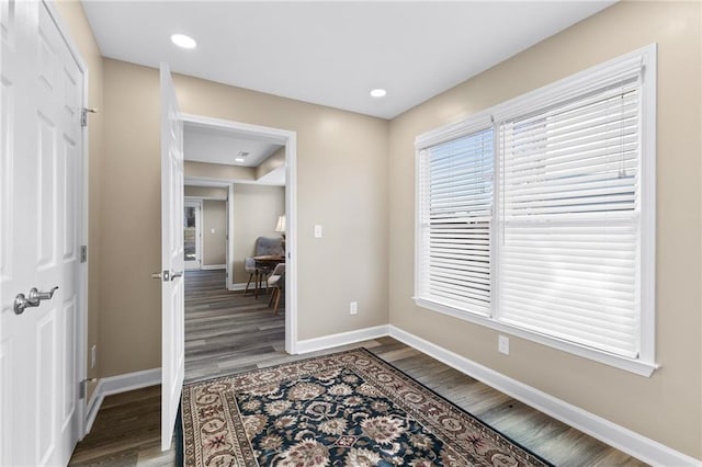
<svg viewBox="0 0 702 467"><path fill-rule="evenodd" d="M101 61L80 5L58 10L90 67L89 104L101 110L89 127L90 374L158 367L160 287L148 278L160 263L158 73ZM195 78L176 77L176 87L185 112L297 132L301 339L386 323L389 300L390 323L702 458L700 16L697 2L618 3L389 125ZM513 337L503 356L494 331L415 307L415 136L653 42L661 368L644 378Z"/></svg>

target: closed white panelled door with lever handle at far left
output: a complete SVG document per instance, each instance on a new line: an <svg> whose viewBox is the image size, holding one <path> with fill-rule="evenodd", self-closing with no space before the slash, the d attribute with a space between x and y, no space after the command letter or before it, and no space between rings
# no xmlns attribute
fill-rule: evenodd
<svg viewBox="0 0 702 467"><path fill-rule="evenodd" d="M0 1L2 466L66 465L82 413L76 329L84 77L52 11ZM19 294L32 306L15 307Z"/></svg>

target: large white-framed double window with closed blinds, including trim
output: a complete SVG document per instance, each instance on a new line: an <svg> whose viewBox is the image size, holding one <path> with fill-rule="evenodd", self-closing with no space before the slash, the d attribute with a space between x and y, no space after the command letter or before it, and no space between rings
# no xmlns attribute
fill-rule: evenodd
<svg viewBox="0 0 702 467"><path fill-rule="evenodd" d="M418 305L653 372L655 46L416 147Z"/></svg>

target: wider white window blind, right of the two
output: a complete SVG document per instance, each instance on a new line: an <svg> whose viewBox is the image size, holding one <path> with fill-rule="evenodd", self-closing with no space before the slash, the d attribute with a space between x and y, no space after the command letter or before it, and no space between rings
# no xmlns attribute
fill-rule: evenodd
<svg viewBox="0 0 702 467"><path fill-rule="evenodd" d="M638 352L636 76L500 125L499 318Z"/></svg>

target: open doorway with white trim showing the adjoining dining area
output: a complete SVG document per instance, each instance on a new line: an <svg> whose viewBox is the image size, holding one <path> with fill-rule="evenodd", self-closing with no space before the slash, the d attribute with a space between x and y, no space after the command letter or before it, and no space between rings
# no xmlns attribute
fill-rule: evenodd
<svg viewBox="0 0 702 467"><path fill-rule="evenodd" d="M199 186L203 193L205 187L226 187L227 193L226 270L204 267L201 255L201 270L185 274L185 379L192 381L235 373L267 360L269 355L271 358L280 358L294 352L296 148L294 132L195 115L182 115L182 118L185 127L183 143L186 186ZM189 128L195 128L196 135L189 137ZM273 145L275 148L263 157L265 160L248 167L235 164L231 163L235 159L233 156L246 159L256 157L256 152L229 147L219 156L225 159L218 158L217 141L222 141L225 136L250 140L256 145ZM195 139L203 139L208 150L189 150L189 144ZM199 158L192 160L192 153L199 155ZM275 167L275 170L272 169L274 164L271 161L275 159L272 156L278 156L280 160L280 167ZM280 192L280 202L274 207L261 198L252 197L258 192L271 193L275 190ZM242 203L248 203L248 206ZM245 215L247 209L251 213L250 217ZM256 218L261 213L270 215L270 219ZM283 232L278 228L281 216L286 218ZM248 241L237 237L257 223L262 226L262 230L250 234ZM201 228L202 236L206 236L208 231L207 228ZM281 258L286 262L286 273L282 287L284 293L280 295L280 311L275 315L269 304L271 296L265 295L265 292L260 291L258 296L253 289L245 293L248 274L244 275L244 260L252 255L257 236L280 239L281 234L285 236L286 248ZM189 314L189 309L192 312Z"/></svg>

